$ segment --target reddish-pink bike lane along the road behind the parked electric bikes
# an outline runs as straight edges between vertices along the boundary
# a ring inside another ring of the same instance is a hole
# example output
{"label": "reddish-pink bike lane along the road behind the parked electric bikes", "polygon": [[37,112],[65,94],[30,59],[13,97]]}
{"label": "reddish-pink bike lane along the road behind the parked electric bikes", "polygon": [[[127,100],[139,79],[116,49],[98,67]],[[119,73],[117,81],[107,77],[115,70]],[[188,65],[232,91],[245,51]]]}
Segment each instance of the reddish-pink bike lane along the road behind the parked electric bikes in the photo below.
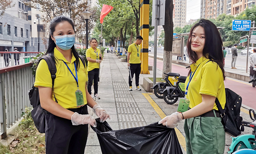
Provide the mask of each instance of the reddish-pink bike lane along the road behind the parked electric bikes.
{"label": "reddish-pink bike lane along the road behind the parked electric bikes", "polygon": [[[154,65],[154,59],[149,57],[149,65]],[[156,60],[156,68],[163,70],[163,61]],[[179,66],[172,64],[172,72],[179,73],[182,76],[188,75],[188,69],[184,66]],[[242,97],[242,104],[249,106],[253,109],[256,109],[256,88],[252,87],[250,83],[244,83],[243,81],[237,81],[233,79],[226,78],[224,81],[225,88],[229,88],[235,93],[239,94]]]}

